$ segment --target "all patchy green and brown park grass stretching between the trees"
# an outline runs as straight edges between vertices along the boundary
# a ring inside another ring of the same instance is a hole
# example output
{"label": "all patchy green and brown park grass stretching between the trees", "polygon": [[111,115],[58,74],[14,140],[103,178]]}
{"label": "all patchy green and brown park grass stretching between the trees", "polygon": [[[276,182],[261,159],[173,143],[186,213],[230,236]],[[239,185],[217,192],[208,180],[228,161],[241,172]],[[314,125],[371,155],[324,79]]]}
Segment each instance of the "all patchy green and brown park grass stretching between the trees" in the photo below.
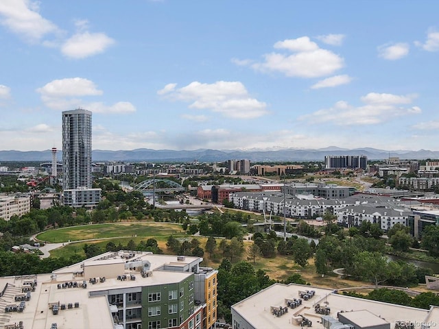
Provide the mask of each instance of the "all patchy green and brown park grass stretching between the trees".
{"label": "all patchy green and brown park grass stretching between the trees", "polygon": [[[49,230],[38,234],[37,239],[41,241],[48,241],[51,243],[61,243],[71,241],[64,247],[51,250],[51,257],[54,258],[69,258],[74,254],[85,256],[84,245],[96,244],[97,246],[105,249],[106,244],[112,241],[116,245],[127,245],[128,241],[132,240],[138,244],[142,240],[153,238],[158,242],[158,246],[163,249],[165,254],[169,253],[166,248],[166,242],[170,235],[176,236],[178,239],[193,239],[193,236],[188,236],[182,230],[178,224],[171,223],[109,223],[109,224],[95,224],[88,226],[75,226],[71,228],[62,228],[58,230]],[[82,241],[88,240],[90,241]],[[204,248],[206,244],[206,238],[198,236],[200,246]],[[78,242],[74,242],[78,241]],[[217,239],[217,245],[219,245],[220,239]],[[250,241],[244,241],[244,253],[238,260],[247,260],[247,248],[250,245]],[[222,254],[219,250],[215,252],[213,256],[205,252],[204,265],[217,268],[222,260]],[[293,273],[299,273],[304,280],[310,282],[313,285],[320,287],[334,287],[344,288],[352,287],[359,284],[359,282],[353,282],[350,280],[341,280],[335,275],[327,275],[324,278],[316,273],[316,269],[313,265],[312,258],[309,260],[309,264],[305,267],[300,267],[294,263],[294,260],[290,256],[276,256],[274,258],[258,257],[254,263],[256,270],[263,269],[268,276],[276,280],[284,280]]]}

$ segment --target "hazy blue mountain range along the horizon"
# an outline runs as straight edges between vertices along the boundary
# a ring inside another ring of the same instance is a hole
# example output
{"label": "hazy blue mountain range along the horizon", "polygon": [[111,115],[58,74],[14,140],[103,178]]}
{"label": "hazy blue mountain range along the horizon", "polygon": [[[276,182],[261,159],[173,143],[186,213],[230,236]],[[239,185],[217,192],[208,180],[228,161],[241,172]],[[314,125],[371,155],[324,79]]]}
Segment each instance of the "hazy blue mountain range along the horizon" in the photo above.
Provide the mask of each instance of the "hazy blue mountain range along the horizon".
{"label": "hazy blue mountain range along the horizon", "polygon": [[[200,162],[225,161],[230,159],[248,159],[252,162],[270,161],[323,161],[324,156],[367,156],[369,160],[384,160],[390,157],[401,159],[439,159],[439,151],[420,149],[418,151],[396,150],[386,151],[370,147],[358,149],[342,149],[325,147],[323,149],[274,149],[274,150],[216,150],[195,149],[192,151],[175,151],[171,149],[132,149],[108,151],[95,149],[93,161],[148,161],[148,162]],[[62,151],[58,151],[58,161],[62,159]],[[45,151],[0,151],[0,161],[41,161],[51,162],[51,150]]]}

